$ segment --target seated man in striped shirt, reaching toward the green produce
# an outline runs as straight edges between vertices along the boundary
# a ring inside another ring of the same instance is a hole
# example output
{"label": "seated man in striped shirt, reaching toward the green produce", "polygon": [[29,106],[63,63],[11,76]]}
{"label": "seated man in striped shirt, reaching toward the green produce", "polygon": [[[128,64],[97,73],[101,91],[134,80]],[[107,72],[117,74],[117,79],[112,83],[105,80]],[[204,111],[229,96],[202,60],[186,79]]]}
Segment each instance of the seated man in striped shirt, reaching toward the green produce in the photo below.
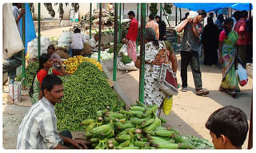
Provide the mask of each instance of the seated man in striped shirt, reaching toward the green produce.
{"label": "seated man in striped shirt, reaching toward the green produce", "polygon": [[[18,128],[18,149],[69,149],[71,146],[86,148],[85,141],[72,140],[59,134],[54,105],[62,102],[62,80],[55,75],[47,75],[42,80],[43,97],[35,103]],[[70,132],[69,132],[70,134]],[[70,147],[67,147],[70,144]]]}

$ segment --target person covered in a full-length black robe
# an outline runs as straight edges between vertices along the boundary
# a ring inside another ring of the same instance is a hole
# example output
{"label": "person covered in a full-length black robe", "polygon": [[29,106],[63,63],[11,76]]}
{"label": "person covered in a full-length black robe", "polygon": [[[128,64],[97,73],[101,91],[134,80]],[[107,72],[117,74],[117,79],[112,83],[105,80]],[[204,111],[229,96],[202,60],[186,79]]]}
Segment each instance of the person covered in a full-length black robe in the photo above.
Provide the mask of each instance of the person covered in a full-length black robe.
{"label": "person covered in a full-length black robe", "polygon": [[202,48],[204,51],[204,65],[216,65],[218,61],[218,26],[213,18],[207,18],[207,25],[202,31]]}

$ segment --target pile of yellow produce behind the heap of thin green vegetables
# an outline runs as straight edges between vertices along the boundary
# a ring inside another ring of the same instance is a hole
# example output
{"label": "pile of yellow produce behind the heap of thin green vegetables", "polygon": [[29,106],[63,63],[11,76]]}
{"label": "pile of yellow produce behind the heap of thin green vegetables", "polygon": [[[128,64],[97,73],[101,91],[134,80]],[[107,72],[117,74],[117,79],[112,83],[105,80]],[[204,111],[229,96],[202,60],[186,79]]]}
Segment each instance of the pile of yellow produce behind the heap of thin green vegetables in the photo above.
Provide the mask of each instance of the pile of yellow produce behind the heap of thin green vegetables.
{"label": "pile of yellow produce behind the heap of thin green vegetables", "polygon": [[66,65],[66,73],[73,74],[78,69],[78,65],[80,65],[83,61],[89,61],[90,63],[96,65],[98,69],[102,71],[102,65],[100,64],[100,62],[90,57],[82,57],[81,55],[78,55],[70,57],[66,61],[63,61],[63,65]]}

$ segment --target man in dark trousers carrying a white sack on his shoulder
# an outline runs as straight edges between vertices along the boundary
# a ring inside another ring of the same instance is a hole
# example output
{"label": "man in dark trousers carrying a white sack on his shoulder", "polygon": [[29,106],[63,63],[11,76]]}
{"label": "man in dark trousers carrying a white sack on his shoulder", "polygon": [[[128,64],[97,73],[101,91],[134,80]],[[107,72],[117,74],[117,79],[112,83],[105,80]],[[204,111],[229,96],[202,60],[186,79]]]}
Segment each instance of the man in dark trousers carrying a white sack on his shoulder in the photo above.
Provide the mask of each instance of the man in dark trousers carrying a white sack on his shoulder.
{"label": "man in dark trousers carrying a white sack on his shoulder", "polygon": [[205,10],[198,10],[198,16],[195,18],[187,18],[181,26],[178,27],[178,33],[184,29],[182,39],[182,61],[181,61],[181,77],[182,92],[187,91],[187,66],[190,64],[194,85],[197,95],[207,95],[209,91],[202,88],[202,76],[199,65],[199,35],[202,33],[202,20],[206,17]]}

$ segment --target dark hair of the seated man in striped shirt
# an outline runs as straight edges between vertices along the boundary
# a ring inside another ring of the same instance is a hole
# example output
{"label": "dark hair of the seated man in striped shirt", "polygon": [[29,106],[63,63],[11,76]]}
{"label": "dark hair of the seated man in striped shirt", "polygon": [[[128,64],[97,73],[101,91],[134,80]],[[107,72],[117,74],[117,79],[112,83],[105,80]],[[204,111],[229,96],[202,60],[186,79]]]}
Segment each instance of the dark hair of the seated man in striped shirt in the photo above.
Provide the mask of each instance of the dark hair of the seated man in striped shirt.
{"label": "dark hair of the seated man in striped shirt", "polygon": [[42,95],[45,96],[43,92],[45,89],[48,91],[51,91],[51,89],[54,88],[54,85],[60,85],[60,84],[62,84],[62,80],[58,76],[55,76],[54,74],[47,75],[42,80],[42,85],[41,85]]}

